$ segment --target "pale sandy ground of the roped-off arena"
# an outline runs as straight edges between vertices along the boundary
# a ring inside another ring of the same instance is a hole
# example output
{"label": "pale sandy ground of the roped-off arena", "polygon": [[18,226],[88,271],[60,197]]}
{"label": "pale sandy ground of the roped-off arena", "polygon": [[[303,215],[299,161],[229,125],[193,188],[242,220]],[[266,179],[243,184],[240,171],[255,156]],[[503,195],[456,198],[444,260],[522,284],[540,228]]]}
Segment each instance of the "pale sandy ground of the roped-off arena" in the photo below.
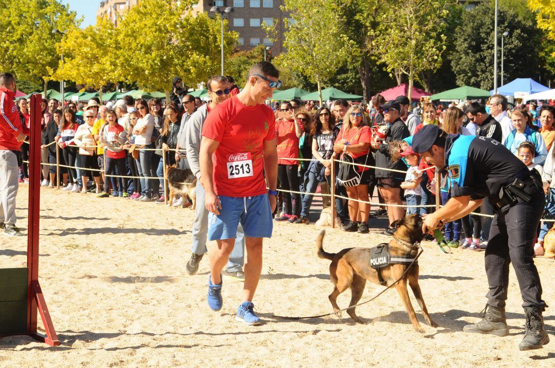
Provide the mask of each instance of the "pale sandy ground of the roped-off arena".
{"label": "pale sandy ground of the roped-off arena", "polygon": [[[206,305],[208,260],[199,274],[184,273],[190,254],[193,211],[123,198],[41,193],[41,285],[62,345],[48,347],[25,336],[0,339],[0,366],[186,367],[522,367],[555,365],[555,317],[544,314],[552,343],[520,352],[524,326],[521,297],[511,270],[507,318],[511,335],[468,335],[487,292],[483,252],[451,255],[425,243],[420,285],[440,328],[416,333],[395,290],[357,308],[366,324],[329,318],[287,321],[331,311],[329,261],[315,254],[313,224],[275,224],[265,241],[263,276],[255,298],[261,326],[236,323],[242,284],[225,278],[224,308]],[[18,195],[18,224],[27,227],[27,187]],[[376,232],[329,230],[325,249],[372,246]],[[213,247],[214,244],[210,244]],[[26,262],[26,238],[0,236],[0,267]],[[555,263],[537,259],[544,299],[555,305]],[[367,283],[362,300],[382,289]],[[350,292],[340,296],[345,307]],[[348,317],[348,316],[347,316]],[[39,321],[40,324],[40,321]]]}

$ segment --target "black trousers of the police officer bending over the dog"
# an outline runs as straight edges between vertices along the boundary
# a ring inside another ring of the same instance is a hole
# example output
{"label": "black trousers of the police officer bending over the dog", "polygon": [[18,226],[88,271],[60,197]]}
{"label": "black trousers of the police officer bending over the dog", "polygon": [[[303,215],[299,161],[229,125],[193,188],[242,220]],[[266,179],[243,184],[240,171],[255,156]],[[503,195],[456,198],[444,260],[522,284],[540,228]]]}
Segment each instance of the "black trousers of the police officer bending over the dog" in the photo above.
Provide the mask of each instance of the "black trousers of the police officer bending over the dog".
{"label": "black trousers of the police officer bending over the dog", "polygon": [[524,301],[522,306],[537,306],[542,310],[546,306],[542,300],[542,285],[533,260],[534,239],[544,202],[543,193],[537,191],[529,203],[518,200],[513,206],[495,210],[486,248],[489,305],[505,308],[509,264],[512,263]]}

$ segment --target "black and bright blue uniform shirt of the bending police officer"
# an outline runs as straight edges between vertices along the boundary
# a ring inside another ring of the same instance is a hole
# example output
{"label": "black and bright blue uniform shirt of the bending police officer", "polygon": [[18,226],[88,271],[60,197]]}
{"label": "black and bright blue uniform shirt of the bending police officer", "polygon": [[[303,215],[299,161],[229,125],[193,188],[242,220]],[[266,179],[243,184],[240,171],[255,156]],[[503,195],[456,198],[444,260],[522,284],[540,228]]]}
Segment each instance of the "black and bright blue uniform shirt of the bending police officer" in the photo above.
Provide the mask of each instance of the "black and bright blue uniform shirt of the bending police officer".
{"label": "black and bright blue uniform shirt of the bending police officer", "polygon": [[499,190],[514,178],[529,176],[526,165],[498,141],[474,135],[448,135],[445,143],[452,197],[488,197],[499,201]]}

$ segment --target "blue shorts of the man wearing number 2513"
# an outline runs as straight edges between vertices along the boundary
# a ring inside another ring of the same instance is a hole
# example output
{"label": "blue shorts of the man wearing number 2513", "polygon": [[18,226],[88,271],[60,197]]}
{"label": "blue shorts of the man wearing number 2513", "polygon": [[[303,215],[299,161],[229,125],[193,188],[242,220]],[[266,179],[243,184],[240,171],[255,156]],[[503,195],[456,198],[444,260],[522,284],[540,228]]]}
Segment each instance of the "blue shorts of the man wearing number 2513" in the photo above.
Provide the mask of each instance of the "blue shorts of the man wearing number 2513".
{"label": "blue shorts of the man wearing number 2513", "polygon": [[208,240],[232,239],[237,235],[239,222],[245,237],[271,238],[273,221],[267,194],[254,197],[218,196],[220,214],[208,214]]}

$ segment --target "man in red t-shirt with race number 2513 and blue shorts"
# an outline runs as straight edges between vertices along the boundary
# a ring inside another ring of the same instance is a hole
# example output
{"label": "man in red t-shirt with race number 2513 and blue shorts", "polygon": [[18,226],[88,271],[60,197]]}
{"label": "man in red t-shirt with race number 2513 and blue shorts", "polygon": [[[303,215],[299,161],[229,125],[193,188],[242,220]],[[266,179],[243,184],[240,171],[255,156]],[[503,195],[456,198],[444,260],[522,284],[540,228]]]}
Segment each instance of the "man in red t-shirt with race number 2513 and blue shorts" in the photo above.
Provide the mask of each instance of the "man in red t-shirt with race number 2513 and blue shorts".
{"label": "man in red t-shirt with race number 2513 and blue shorts", "polygon": [[200,181],[210,211],[208,239],[218,242],[218,249],[210,254],[208,305],[217,311],[223,304],[221,270],[233,251],[240,222],[247,263],[243,303],[235,319],[249,325],[260,324],[252,300],[262,271],[263,238],[271,237],[278,194],[274,113],[265,105],[281,85],[278,76],[270,62],[251,67],[243,91],[206,117],[200,145]]}

